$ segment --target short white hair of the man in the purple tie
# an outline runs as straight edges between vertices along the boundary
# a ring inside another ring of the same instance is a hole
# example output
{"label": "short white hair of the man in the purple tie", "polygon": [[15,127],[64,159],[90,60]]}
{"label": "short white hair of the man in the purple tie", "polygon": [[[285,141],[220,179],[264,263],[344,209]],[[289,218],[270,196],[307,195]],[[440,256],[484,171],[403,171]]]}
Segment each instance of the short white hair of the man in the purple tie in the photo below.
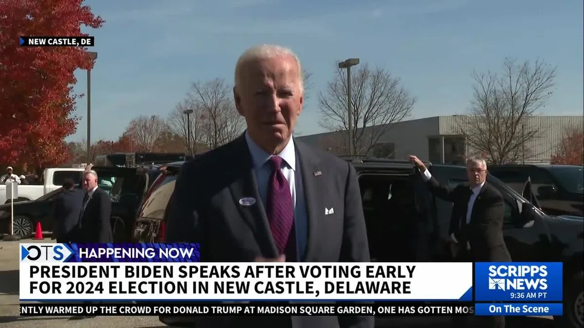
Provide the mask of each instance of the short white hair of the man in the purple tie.
{"label": "short white hair of the man in the purple tie", "polygon": [[294,53],[294,51],[286,47],[276,46],[275,44],[262,44],[260,46],[254,46],[244,51],[244,53],[239,56],[237,64],[235,64],[235,86],[237,87],[238,85],[244,83],[244,81],[241,81],[241,75],[245,65],[249,64],[250,62],[281,56],[290,56],[296,60],[296,63],[298,64],[298,75],[300,76],[300,90],[304,91],[304,72],[302,65],[300,64],[300,59],[298,59],[298,56]]}

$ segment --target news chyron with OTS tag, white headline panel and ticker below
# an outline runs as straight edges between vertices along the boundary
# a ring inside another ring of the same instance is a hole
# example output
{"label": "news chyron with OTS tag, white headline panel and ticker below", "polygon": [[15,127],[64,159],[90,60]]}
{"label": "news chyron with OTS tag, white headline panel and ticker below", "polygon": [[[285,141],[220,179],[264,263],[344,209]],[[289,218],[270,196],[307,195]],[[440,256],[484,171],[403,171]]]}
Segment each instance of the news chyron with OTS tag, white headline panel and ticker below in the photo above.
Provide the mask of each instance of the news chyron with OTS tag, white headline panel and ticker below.
{"label": "news chyron with OTS tag, white headline panel and ticker below", "polygon": [[[281,303],[270,301],[324,301],[319,302],[318,309],[311,308],[311,313],[323,315],[349,312],[377,315],[379,311],[396,315],[453,315],[474,310],[453,306],[453,302],[460,305],[472,302],[472,263],[199,263],[199,247],[185,243],[21,244],[20,259],[20,301],[159,302],[139,303],[142,306],[139,310],[138,305],[123,305],[122,309],[119,304],[103,308],[53,302],[22,304],[21,315],[56,312],[116,315],[131,308],[142,311],[133,314],[143,315],[158,315],[160,311],[213,314],[217,310],[213,308],[217,303],[206,309],[189,308],[192,303],[184,302],[182,308],[176,309],[160,304],[175,301],[196,301],[201,305],[216,301],[263,301],[259,305],[222,304],[234,315],[262,304],[281,307]],[[377,301],[408,304],[362,309],[361,303],[346,309],[338,308],[332,301],[346,301],[343,306],[363,301],[376,301],[376,305]],[[450,307],[427,306],[422,303],[425,301],[448,302]],[[305,310],[301,307],[290,305],[283,311],[304,315],[305,312],[298,312]],[[266,313],[265,310],[258,311]]]}

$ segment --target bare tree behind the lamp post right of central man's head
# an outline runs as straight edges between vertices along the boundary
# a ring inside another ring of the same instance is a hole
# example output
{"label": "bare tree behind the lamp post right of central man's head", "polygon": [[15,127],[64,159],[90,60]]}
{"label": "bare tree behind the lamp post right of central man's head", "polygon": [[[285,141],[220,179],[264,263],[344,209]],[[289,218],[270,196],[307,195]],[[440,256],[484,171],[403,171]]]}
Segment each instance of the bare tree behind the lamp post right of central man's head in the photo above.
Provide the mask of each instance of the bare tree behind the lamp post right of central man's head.
{"label": "bare tree behind the lamp post right of central man's head", "polygon": [[[330,131],[348,131],[347,78],[345,69],[336,69],[326,92],[319,93],[321,120],[319,124]],[[351,71],[351,111],[353,140],[345,137],[345,153],[352,142],[356,155],[367,155],[373,146],[397,123],[408,117],[415,98],[396,78],[382,68],[370,69],[363,64]]]}

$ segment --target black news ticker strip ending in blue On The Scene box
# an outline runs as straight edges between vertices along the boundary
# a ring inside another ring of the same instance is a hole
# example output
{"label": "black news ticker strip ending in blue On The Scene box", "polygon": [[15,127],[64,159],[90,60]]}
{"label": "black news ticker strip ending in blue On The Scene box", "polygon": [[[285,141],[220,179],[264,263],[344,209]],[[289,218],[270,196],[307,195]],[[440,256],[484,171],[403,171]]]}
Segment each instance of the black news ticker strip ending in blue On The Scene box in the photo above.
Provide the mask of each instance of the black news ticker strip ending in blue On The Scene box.
{"label": "black news ticker strip ending in blue On The Scene box", "polygon": [[561,316],[561,303],[20,304],[20,316]]}

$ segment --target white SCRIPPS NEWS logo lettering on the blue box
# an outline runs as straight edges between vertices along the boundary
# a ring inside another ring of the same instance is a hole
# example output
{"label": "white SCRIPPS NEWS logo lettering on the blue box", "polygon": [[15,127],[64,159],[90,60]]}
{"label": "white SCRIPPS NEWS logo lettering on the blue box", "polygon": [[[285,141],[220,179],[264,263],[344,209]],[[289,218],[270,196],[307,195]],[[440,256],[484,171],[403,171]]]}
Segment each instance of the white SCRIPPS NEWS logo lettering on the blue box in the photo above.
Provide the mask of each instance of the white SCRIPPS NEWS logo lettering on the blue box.
{"label": "white SCRIPPS NEWS logo lettering on the blue box", "polygon": [[547,266],[489,266],[489,289],[545,291]]}

